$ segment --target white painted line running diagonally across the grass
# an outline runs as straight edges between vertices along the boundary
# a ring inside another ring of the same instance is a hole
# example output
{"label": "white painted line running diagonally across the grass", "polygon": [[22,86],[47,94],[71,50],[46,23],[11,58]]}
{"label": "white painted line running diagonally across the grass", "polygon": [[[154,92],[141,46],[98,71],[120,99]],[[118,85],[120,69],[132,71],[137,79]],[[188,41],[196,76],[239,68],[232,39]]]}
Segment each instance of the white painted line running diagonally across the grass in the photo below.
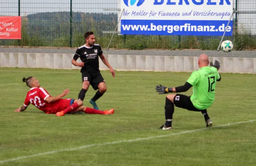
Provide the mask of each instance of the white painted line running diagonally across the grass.
{"label": "white painted line running diagonally across the grass", "polygon": [[[220,126],[213,126],[212,128],[231,126],[231,125],[236,125],[236,124],[241,124],[241,123],[250,123],[250,122],[254,122],[254,121],[256,121],[256,120],[242,121],[242,122],[237,122],[237,123],[228,123],[228,124],[224,124],[224,125],[220,125]],[[107,142],[107,143],[96,143],[96,144],[84,145],[84,146],[80,146],[80,147],[76,147],[76,148],[55,150],[55,151],[50,151],[50,152],[38,153],[38,154],[34,154],[34,155],[11,158],[11,159],[8,159],[8,160],[0,160],[0,163],[6,163],[6,162],[9,162],[9,161],[17,161],[17,160],[22,160],[22,159],[25,159],[25,158],[37,157],[37,156],[42,156],[42,155],[50,155],[50,154],[59,153],[59,152],[67,152],[67,151],[75,151],[75,150],[79,150],[79,149],[86,149],[86,148],[90,148],[90,147],[93,147],[93,146],[105,146],[105,145],[113,145],[113,144],[117,144],[117,143],[131,143],[131,142],[136,142],[136,141],[140,141],[140,140],[151,140],[151,139],[155,139],[155,138],[169,137],[169,136],[172,136],[172,135],[181,135],[181,134],[186,134],[186,133],[198,132],[198,131],[202,131],[202,130],[205,130],[205,129],[207,129],[207,128],[196,129],[196,130],[188,130],[188,131],[185,131],[185,132],[172,133],[172,134],[168,134],[168,135],[159,135],[159,136],[155,136],[155,137],[137,138],[137,139],[134,139],[134,140],[119,140],[119,141],[113,141],[113,142]]]}

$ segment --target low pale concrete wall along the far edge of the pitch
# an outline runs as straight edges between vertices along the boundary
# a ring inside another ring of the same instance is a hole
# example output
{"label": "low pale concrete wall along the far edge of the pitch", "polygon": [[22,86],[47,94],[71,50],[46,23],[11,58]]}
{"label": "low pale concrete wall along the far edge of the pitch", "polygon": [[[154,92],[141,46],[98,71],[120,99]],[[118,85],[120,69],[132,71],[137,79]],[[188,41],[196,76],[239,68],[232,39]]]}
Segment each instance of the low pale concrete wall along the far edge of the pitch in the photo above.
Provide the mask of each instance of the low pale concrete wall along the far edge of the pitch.
{"label": "low pale concrete wall along the far edge of the pitch", "polygon": [[[198,69],[198,57],[144,55],[105,55],[115,70],[192,72]],[[0,53],[1,67],[80,69],[73,66],[73,54]],[[256,58],[210,57],[221,63],[219,72],[256,73]],[[80,60],[78,60],[80,62]],[[108,69],[99,60],[100,69]]]}

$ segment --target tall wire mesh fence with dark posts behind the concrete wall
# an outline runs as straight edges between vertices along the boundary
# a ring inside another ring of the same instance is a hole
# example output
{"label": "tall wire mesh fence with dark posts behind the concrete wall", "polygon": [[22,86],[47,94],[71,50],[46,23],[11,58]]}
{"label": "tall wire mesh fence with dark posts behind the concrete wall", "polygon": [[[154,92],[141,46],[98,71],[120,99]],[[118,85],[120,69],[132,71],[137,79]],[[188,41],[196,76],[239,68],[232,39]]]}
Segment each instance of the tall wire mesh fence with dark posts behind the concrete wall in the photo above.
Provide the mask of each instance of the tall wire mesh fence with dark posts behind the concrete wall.
{"label": "tall wire mesh fence with dark posts behind the concrete wall", "polygon": [[[233,36],[236,50],[256,49],[256,0],[234,0]],[[94,31],[106,48],[118,23],[120,0],[0,0],[0,16],[22,17],[22,39],[0,40],[6,46],[78,47],[83,34]],[[218,48],[221,36],[113,36],[117,49]]]}

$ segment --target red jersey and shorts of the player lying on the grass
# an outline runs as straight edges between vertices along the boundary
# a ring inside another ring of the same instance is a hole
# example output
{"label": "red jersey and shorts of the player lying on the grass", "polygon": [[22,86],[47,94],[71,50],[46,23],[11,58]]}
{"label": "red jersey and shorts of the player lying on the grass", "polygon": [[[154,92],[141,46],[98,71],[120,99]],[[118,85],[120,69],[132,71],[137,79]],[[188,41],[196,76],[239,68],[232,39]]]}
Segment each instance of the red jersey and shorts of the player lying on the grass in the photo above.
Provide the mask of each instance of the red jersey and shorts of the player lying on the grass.
{"label": "red jersey and shorts of the player lying on the grass", "polygon": [[52,114],[66,109],[70,106],[70,99],[59,99],[51,103],[47,103],[45,99],[51,97],[49,93],[42,87],[31,88],[26,95],[24,106],[29,106],[32,103],[41,111]]}

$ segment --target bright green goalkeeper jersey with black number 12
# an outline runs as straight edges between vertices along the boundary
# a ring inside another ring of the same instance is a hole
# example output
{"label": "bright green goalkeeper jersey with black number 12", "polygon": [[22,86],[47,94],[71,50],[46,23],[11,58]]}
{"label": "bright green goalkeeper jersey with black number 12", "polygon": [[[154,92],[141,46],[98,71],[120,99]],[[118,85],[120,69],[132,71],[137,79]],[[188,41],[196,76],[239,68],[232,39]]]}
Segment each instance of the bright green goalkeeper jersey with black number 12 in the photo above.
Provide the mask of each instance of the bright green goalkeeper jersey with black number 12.
{"label": "bright green goalkeeper jersey with black number 12", "polygon": [[193,94],[190,99],[197,109],[207,109],[215,99],[216,81],[220,79],[220,74],[215,67],[202,67],[192,72],[187,80],[193,86]]}

